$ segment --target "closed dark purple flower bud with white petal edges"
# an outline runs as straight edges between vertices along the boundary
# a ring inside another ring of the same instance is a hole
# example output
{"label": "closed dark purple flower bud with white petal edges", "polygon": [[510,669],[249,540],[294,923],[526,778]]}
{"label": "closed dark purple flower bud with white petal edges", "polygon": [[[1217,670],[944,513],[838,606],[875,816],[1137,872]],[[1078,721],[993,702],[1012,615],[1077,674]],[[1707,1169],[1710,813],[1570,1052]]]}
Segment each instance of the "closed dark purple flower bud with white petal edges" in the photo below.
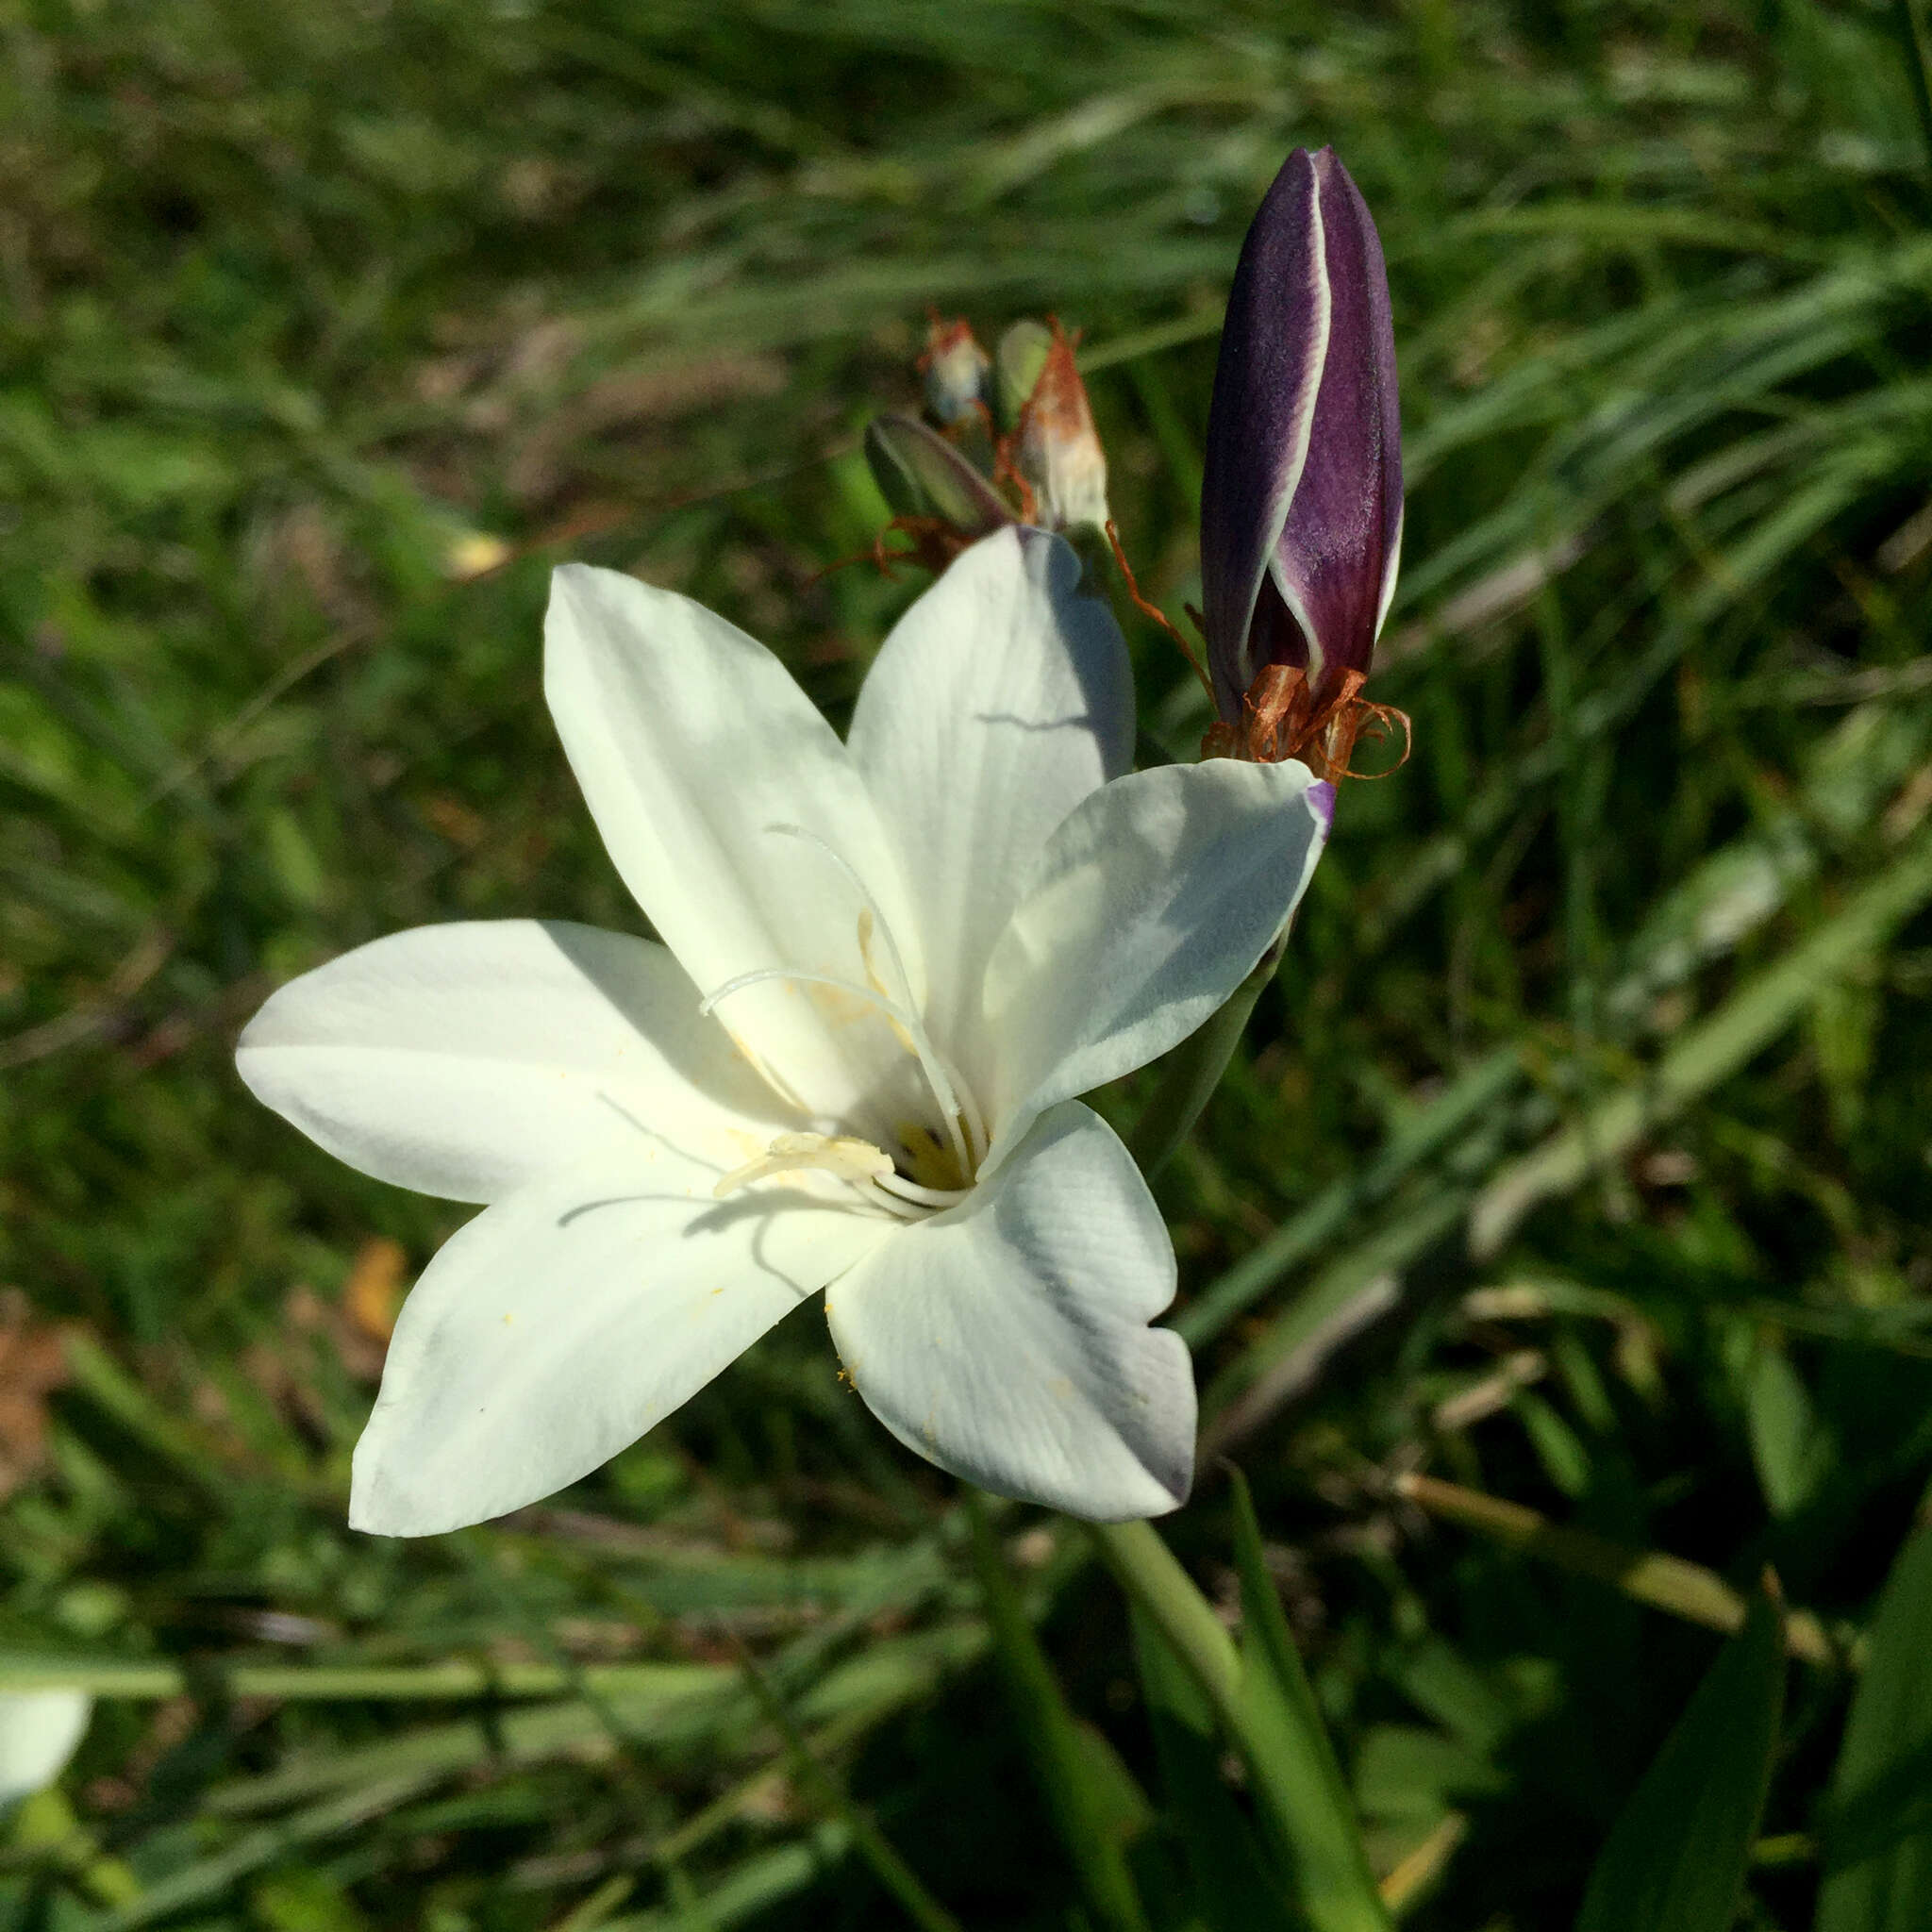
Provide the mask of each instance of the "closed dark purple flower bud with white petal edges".
{"label": "closed dark purple flower bud with white petal edges", "polygon": [[1296,149],[1235,269],[1208,412],[1202,601],[1225,724],[1269,667],[1316,705],[1368,674],[1403,541],[1403,427],[1376,222]]}

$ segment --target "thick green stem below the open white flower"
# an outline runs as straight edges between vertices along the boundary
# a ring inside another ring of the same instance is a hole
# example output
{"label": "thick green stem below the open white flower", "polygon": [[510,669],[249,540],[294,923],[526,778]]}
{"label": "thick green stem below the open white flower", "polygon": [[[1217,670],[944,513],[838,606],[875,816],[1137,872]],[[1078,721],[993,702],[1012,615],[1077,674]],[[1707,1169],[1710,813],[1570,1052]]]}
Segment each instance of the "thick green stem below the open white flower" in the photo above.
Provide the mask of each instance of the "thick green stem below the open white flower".
{"label": "thick green stem below the open white flower", "polygon": [[[1285,1654],[1275,1660],[1281,1681],[1269,1685],[1269,1665],[1242,1658],[1150,1522],[1095,1522],[1090,1532],[1121,1588],[1208,1694],[1248,1766],[1256,1803],[1293,1859],[1308,1924],[1314,1932],[1389,1932],[1333,1747],[1287,1629],[1279,1633]],[[1264,1638],[1256,1634],[1254,1642]]]}

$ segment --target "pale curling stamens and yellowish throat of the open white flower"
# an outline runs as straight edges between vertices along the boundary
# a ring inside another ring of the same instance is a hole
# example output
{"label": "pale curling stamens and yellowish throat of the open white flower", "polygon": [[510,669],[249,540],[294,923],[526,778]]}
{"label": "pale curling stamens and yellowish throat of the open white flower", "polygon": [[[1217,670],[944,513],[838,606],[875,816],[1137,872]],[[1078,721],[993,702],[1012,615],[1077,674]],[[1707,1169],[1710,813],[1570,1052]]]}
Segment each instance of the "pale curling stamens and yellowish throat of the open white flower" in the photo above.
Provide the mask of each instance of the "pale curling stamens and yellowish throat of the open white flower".
{"label": "pale curling stamens and yellowish throat of the open white flower", "polygon": [[[918,1061],[925,1088],[937,1105],[939,1124],[933,1126],[927,1121],[900,1122],[900,1153],[896,1159],[873,1142],[854,1134],[779,1134],[757,1159],[746,1161],[724,1175],[713,1192],[723,1198],[771,1175],[817,1169],[837,1175],[869,1206],[883,1208],[887,1213],[902,1219],[918,1219],[920,1215],[952,1208],[972,1190],[974,1175],[985,1159],[987,1134],[980,1107],[960,1078],[958,1068],[939,1051],[925,1030],[925,1022],[914,1010],[906,962],[860,875],[823,838],[802,825],[773,825],[769,831],[813,844],[846,875],[860,895],[858,954],[866,968],[866,983],[860,985],[837,974],[765,966],[759,972],[738,974],[736,980],[726,980],[724,985],[705,995],[697,1010],[709,1014],[721,1001],[730,999],[734,993],[771,980],[784,980],[792,985],[823,985],[838,993],[848,993],[879,1012],[887,1026],[891,1026],[893,1037]],[[898,997],[895,997],[891,983],[881,974],[879,962],[873,956],[875,941],[885,954],[885,964],[891,968],[893,980],[898,983]]]}

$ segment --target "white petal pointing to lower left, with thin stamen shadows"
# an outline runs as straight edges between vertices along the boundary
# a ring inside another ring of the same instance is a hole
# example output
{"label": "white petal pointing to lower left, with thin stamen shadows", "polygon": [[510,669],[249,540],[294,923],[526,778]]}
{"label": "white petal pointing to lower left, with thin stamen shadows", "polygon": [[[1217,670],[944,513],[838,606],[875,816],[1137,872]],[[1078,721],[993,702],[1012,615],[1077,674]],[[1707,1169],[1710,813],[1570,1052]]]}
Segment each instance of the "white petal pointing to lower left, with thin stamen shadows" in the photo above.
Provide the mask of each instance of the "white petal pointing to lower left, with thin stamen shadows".
{"label": "white petal pointing to lower left, with thin stamen shadows", "polygon": [[711,1184],[672,1155],[558,1175],[444,1242],[396,1323],[350,1522],[427,1536],[587,1476],[900,1225]]}

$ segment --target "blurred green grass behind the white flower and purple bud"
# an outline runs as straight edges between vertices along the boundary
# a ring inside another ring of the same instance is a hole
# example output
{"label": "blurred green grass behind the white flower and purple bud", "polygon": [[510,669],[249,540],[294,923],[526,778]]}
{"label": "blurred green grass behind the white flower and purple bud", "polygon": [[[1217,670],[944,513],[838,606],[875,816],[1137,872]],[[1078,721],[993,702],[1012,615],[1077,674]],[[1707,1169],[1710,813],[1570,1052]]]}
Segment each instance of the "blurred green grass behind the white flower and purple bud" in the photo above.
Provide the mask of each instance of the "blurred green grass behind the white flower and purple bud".
{"label": "blurred green grass behind the white flower and purple bud", "polygon": [[[912,400],[929,303],[1086,330],[1179,612],[1240,234],[1333,141],[1395,298],[1374,696],[1416,752],[1347,788],[1161,1177],[1179,1320],[1378,1870],[1434,1872],[1406,1922],[1569,1924],[1716,1654],[1432,1519],[1395,1488],[1424,1470],[1770,1563],[1820,1619],[1743,1920],[1808,1926],[1845,1652],[1932,1476],[1911,17],[0,0],[0,1283],[73,1337],[0,1517],[0,1648],[137,1692],[71,1810],[15,1824],[0,1922],[914,1922],[873,1820],[966,1926],[1086,1924],[951,1486],[813,1314],[551,1507],[346,1530],[371,1383],[338,1296],[462,1211],[328,1161],[230,1051],[400,925],[638,923],[541,703],[553,562],[701,597],[842,723],[916,585],[825,566],[883,522],[858,431]],[[462,578],[475,531],[510,560]],[[1188,755],[1184,667],[1130,636]],[[1167,1528],[1233,1609],[1211,1463]],[[1001,1530],[1144,1772],[1117,1594],[1065,1526]],[[406,1665],[495,1689],[361,1694]]]}

